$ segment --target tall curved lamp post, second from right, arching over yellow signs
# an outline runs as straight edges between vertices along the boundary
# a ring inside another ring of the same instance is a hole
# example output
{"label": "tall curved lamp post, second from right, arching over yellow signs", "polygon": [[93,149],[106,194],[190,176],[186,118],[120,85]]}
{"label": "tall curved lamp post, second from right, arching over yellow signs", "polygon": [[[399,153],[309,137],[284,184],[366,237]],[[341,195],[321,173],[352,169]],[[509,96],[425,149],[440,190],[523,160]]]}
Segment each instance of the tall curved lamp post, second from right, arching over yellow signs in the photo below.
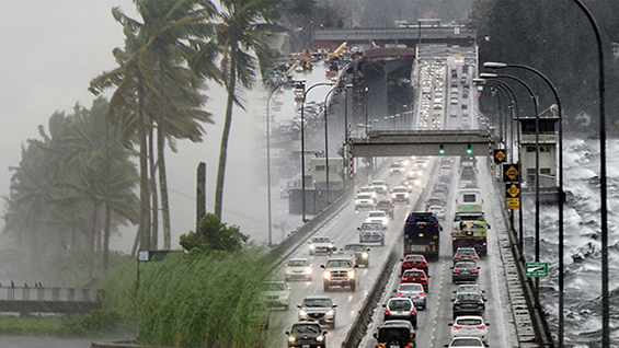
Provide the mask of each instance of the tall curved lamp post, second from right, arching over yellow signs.
{"label": "tall curved lamp post, second from right, arching over yellow signs", "polygon": [[486,61],[483,63],[484,68],[492,69],[503,69],[503,68],[516,68],[528,70],[538,77],[540,77],[552,90],[554,100],[557,101],[557,108],[559,112],[559,348],[563,348],[563,336],[564,336],[564,317],[563,317],[563,305],[564,305],[564,265],[563,265],[563,246],[564,246],[564,234],[563,234],[563,108],[561,107],[561,100],[559,98],[559,93],[557,93],[557,88],[548,77],[541,73],[539,70],[534,69],[528,66],[516,65],[516,63],[504,63],[504,62],[492,62]]}

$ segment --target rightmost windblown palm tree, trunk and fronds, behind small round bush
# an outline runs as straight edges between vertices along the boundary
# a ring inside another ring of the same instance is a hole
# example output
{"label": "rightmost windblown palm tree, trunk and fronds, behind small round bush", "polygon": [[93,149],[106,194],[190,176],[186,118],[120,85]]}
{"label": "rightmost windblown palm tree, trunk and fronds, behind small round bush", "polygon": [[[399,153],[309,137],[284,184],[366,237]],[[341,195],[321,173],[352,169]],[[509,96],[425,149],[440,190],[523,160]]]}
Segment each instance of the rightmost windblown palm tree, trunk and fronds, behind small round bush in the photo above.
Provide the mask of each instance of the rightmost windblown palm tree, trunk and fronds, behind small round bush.
{"label": "rightmost windblown palm tree, trunk and fronds, behind small round bush", "polygon": [[283,14],[283,7],[284,2],[280,0],[220,0],[216,42],[221,50],[220,69],[228,96],[215,189],[215,214],[219,219],[221,219],[232,109],[234,104],[244,108],[237,83],[244,89],[252,86],[256,69],[256,58],[252,53],[257,57],[266,57],[264,38],[267,33],[283,31],[277,24]]}

